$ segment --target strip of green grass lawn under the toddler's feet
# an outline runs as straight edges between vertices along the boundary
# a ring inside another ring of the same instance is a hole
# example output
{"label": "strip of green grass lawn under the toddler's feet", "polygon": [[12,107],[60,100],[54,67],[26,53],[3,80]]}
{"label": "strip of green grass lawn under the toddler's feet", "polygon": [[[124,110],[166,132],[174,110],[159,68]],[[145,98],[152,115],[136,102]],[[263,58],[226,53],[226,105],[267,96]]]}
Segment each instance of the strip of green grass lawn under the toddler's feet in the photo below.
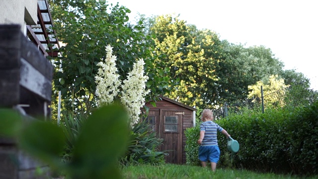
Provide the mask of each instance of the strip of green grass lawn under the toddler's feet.
{"label": "strip of green grass lawn under the toddler's feet", "polygon": [[[212,172],[211,168],[173,164],[130,166],[122,169],[122,175],[124,179],[301,179],[290,175],[259,174],[220,168]],[[311,179],[315,178],[317,179]]]}

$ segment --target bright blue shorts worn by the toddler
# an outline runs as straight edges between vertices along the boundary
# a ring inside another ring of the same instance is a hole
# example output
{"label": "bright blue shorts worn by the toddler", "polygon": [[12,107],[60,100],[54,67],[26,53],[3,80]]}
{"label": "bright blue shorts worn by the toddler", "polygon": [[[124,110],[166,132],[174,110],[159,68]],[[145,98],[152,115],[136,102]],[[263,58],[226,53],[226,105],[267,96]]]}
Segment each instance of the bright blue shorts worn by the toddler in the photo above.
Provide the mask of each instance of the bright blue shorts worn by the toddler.
{"label": "bright blue shorts worn by the toddler", "polygon": [[202,162],[207,162],[209,160],[210,162],[218,163],[220,153],[219,146],[200,146],[198,159]]}

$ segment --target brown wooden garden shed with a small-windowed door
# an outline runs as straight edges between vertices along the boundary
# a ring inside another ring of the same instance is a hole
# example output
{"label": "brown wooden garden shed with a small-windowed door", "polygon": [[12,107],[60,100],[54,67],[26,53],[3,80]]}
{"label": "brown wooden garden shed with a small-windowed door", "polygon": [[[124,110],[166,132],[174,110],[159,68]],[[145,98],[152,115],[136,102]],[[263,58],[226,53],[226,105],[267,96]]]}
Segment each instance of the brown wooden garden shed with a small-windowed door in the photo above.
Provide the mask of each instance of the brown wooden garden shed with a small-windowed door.
{"label": "brown wooden garden shed with a small-windowed door", "polygon": [[156,107],[150,102],[145,104],[149,107],[146,119],[159,138],[163,139],[160,150],[169,150],[169,155],[165,157],[166,163],[185,164],[184,131],[193,127],[197,109],[164,96],[160,98],[161,100],[156,102]]}

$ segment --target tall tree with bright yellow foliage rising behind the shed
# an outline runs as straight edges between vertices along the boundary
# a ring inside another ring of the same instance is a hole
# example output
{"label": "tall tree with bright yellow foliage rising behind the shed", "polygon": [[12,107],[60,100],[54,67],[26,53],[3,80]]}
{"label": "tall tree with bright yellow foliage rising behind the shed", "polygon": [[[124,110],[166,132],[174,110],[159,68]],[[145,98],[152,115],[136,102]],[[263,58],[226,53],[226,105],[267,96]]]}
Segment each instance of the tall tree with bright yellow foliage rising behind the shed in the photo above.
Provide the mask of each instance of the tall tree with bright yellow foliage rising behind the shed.
{"label": "tall tree with bright yellow foliage rising behind the shed", "polygon": [[150,33],[155,35],[155,53],[178,82],[166,95],[191,106],[211,106],[217,98],[217,60],[209,53],[215,53],[218,36],[209,30],[199,32],[171,14],[158,16]]}

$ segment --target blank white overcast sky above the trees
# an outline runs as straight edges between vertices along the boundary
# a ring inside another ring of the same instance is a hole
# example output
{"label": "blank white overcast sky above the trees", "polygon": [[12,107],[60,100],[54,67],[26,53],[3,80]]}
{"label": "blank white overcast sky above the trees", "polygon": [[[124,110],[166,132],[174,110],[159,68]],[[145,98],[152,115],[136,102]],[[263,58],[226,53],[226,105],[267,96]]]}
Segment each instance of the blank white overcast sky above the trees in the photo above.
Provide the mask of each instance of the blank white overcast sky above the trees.
{"label": "blank white overcast sky above the trees", "polygon": [[230,43],[270,48],[285,64],[311,79],[318,90],[318,1],[316,0],[108,0],[147,16],[180,14],[198,29]]}

